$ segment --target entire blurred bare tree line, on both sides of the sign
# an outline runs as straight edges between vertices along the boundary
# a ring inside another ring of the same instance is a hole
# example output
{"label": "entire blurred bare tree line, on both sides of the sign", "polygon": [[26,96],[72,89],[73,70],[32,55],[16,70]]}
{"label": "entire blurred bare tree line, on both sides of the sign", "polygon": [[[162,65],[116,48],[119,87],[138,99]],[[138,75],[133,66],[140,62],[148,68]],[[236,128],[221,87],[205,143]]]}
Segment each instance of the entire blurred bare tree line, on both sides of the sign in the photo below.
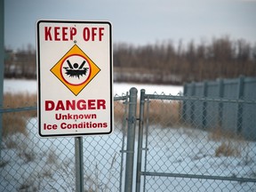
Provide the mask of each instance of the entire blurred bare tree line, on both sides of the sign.
{"label": "entire blurred bare tree line, on both sides of the sign", "polygon": [[[183,84],[216,78],[256,76],[256,44],[228,36],[211,43],[172,41],[138,45],[114,44],[114,80],[150,84]],[[31,45],[5,49],[5,77],[36,78],[36,50]]]}

